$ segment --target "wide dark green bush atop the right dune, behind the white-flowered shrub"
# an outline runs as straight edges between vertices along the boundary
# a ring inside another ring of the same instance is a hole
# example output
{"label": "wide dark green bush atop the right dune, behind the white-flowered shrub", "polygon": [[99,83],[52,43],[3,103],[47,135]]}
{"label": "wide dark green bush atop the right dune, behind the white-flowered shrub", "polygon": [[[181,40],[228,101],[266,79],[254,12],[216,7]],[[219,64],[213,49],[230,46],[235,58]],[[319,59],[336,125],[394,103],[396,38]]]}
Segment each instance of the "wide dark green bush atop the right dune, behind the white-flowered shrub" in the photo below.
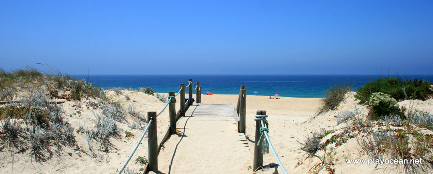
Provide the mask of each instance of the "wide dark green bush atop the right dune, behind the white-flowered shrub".
{"label": "wide dark green bush atop the right dune, behind the white-flowered shrub", "polygon": [[404,99],[421,99],[426,100],[433,95],[432,83],[429,81],[406,80],[402,81],[397,78],[379,78],[376,81],[368,82],[364,86],[359,87],[355,97],[365,103],[370,100],[371,94],[374,92],[382,92],[389,94],[396,100]]}

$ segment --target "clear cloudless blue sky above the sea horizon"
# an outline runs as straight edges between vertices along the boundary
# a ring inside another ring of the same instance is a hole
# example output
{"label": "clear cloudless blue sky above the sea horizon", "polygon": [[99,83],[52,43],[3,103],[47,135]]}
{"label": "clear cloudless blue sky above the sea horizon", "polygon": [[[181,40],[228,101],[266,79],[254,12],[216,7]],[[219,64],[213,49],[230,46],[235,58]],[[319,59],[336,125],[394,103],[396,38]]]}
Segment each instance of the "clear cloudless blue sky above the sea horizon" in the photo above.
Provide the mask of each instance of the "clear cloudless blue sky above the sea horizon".
{"label": "clear cloudless blue sky above the sea horizon", "polygon": [[0,67],[426,75],[432,9],[432,0],[2,0]]}

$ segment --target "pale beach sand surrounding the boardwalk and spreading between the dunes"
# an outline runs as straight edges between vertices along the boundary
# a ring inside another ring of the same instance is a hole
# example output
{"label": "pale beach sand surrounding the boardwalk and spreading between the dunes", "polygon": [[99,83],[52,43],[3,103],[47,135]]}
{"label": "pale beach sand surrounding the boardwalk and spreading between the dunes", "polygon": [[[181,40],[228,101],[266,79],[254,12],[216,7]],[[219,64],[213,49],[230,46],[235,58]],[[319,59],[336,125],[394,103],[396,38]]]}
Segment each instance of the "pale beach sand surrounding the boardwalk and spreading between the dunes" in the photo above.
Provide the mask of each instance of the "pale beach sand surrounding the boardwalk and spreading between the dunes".
{"label": "pale beach sand surrounding the boardwalk and spreading between the dunes", "polygon": [[[131,92],[131,91],[123,91],[122,95],[116,95],[112,91],[108,91],[110,97],[113,100],[119,101],[124,108],[127,108],[129,105],[133,105],[136,107],[143,115],[146,115],[148,111],[156,111],[159,112],[164,106],[165,103],[159,101],[156,97],[151,95],[146,95],[141,92]],[[338,125],[336,123],[336,115],[343,111],[353,110],[355,107],[357,109],[368,111],[364,105],[359,104],[359,100],[353,97],[354,92],[349,92],[346,94],[346,99],[343,101],[337,110],[329,111],[324,114],[316,116],[316,112],[321,107],[321,98],[290,98],[290,97],[279,97],[280,99],[269,99],[268,96],[255,96],[248,95],[247,96],[247,107],[246,107],[246,134],[245,136],[254,140],[255,134],[255,121],[254,115],[257,110],[266,110],[267,115],[269,116],[267,120],[269,121],[269,136],[271,142],[281,160],[284,167],[289,173],[308,173],[309,169],[320,160],[317,158],[309,157],[309,155],[301,150],[300,142],[303,142],[305,137],[314,130],[318,130],[320,128],[325,129],[333,129],[336,130],[336,133],[341,129],[342,125]],[[129,96],[130,100],[127,100],[125,96]],[[161,94],[167,96],[167,94]],[[193,95],[195,97],[195,94]],[[188,97],[188,94],[186,94]],[[179,101],[179,96],[176,97]],[[224,103],[224,104],[233,104],[236,106],[238,95],[202,95],[202,103]],[[93,99],[91,99],[93,100]],[[86,101],[83,101],[86,102]],[[408,104],[406,102],[400,104]],[[432,99],[425,102],[417,103],[420,108],[431,110],[432,107]],[[77,110],[75,102],[65,102],[63,104],[63,109],[65,110],[65,119],[74,127],[75,130],[79,128],[79,126],[83,126],[84,129],[92,129],[95,126],[94,113],[101,112],[100,109],[94,110],[92,108],[86,108],[83,104],[82,108]],[[176,110],[179,108],[178,103],[176,104]],[[80,111],[80,113],[77,113]],[[8,154],[8,152],[3,149],[0,152],[1,155],[1,166],[0,173],[1,174],[33,174],[33,173],[42,173],[42,174],[87,174],[87,173],[116,173],[118,169],[122,166],[124,161],[128,158],[130,152],[135,147],[135,144],[139,140],[142,130],[131,130],[128,127],[128,124],[132,123],[134,118],[131,116],[127,116],[128,123],[118,123],[118,126],[123,129],[120,139],[111,139],[111,142],[115,145],[117,150],[111,150],[110,152],[104,152],[99,150],[99,144],[94,142],[93,147],[95,149],[96,158],[93,158],[89,151],[89,145],[87,142],[85,133],[76,133],[75,137],[78,145],[80,146],[79,150],[65,147],[60,154],[60,156],[54,156],[46,162],[35,162],[31,161],[30,155],[28,152],[25,153],[17,153],[13,156],[13,158]],[[162,139],[167,130],[169,119],[168,119],[168,109],[166,109],[158,118],[158,141]],[[145,125],[143,125],[145,126]],[[132,138],[125,138],[124,131],[130,131],[135,134]],[[233,131],[236,131],[235,126],[233,126]],[[330,134],[328,136],[332,136]],[[194,135],[188,135],[194,136]],[[215,141],[215,137],[207,136],[206,139],[209,141]],[[173,163],[172,166],[176,166],[176,163],[171,161],[172,156],[170,153],[176,147],[173,146],[176,144],[175,138],[169,138],[165,143],[165,147],[161,150],[159,159],[159,171],[160,173],[167,173],[168,167],[170,163]],[[206,147],[203,147],[206,148]],[[254,153],[254,144],[251,141],[248,141],[249,155],[246,157],[236,157],[238,154],[229,154],[233,158],[241,159],[243,162],[241,165],[226,165],[221,166],[221,169],[225,169],[226,171],[237,171],[236,173],[246,173],[252,174],[253,171],[251,169],[253,165],[253,159],[251,158]],[[336,149],[333,149],[332,152],[335,153],[333,158],[335,173],[350,173],[355,174],[364,174],[364,173],[395,173],[395,169],[393,167],[385,167],[385,166],[375,166],[375,165],[351,165],[346,164],[345,159],[355,159],[355,158],[364,158],[367,159],[368,156],[361,153],[361,148],[357,144],[356,140],[352,139],[347,143],[339,146]],[[128,164],[129,169],[135,169],[137,171],[142,166],[140,164],[134,163],[135,159],[138,156],[147,157],[147,136],[141,142],[140,147],[136,151],[135,155],[132,157],[132,160]],[[179,150],[181,151],[181,150]],[[191,151],[194,153],[194,149],[187,149],[187,151]],[[167,152],[166,155],[164,152]],[[248,153],[248,151],[245,151]],[[243,152],[243,153],[245,153]],[[216,152],[218,154],[230,153],[226,151]],[[68,155],[69,154],[69,155]],[[167,155],[168,154],[168,155]],[[181,153],[179,153],[181,154]],[[321,155],[323,151],[319,151],[316,154]],[[224,154],[227,155],[227,154]],[[223,155],[221,155],[223,156]],[[182,156],[179,156],[182,158]],[[195,156],[197,160],[206,161],[210,160],[207,156],[203,156],[198,154]],[[223,161],[224,159],[211,159],[211,160],[219,160]],[[278,167],[277,161],[275,160],[272,152],[270,154],[264,154],[263,165],[265,166],[264,170],[257,171],[257,173],[262,174],[282,174],[281,168]],[[176,166],[176,171],[185,171],[185,173],[194,173],[194,165],[200,164],[191,164],[190,166]],[[183,173],[183,172],[179,172]],[[200,172],[202,173],[202,172]],[[213,173],[224,173],[220,172],[220,170],[215,171],[206,171],[205,173],[213,174]],[[328,172],[323,169],[320,171],[320,174],[327,174]]]}

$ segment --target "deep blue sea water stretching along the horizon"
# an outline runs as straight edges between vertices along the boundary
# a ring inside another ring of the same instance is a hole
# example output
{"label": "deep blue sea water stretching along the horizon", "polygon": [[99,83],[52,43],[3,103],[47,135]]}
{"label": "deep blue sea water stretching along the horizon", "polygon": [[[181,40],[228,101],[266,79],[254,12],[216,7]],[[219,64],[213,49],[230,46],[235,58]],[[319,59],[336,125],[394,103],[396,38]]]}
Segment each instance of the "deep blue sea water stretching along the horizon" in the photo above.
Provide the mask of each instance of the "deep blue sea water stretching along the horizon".
{"label": "deep blue sea water stretching along the horizon", "polygon": [[[188,85],[188,79],[200,82],[202,93],[239,94],[245,85],[248,95],[266,95],[320,98],[336,83],[349,82],[354,89],[366,82],[380,78],[379,75],[74,75],[76,79],[86,79],[103,89],[113,87],[134,88],[152,87],[157,92],[179,91],[179,84]],[[382,76],[383,77],[383,76]],[[400,79],[433,81],[433,75],[405,75]]]}

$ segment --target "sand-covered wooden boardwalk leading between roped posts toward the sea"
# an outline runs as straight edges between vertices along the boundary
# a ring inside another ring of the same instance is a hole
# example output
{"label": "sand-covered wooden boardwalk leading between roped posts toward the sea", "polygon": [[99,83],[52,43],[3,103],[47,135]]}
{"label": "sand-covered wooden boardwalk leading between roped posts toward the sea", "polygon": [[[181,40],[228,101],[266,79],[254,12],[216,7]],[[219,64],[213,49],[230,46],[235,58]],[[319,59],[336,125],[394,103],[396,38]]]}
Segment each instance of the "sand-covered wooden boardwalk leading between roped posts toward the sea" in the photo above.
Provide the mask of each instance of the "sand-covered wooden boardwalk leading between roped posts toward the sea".
{"label": "sand-covered wooden boardwalk leading between roped posts toward the sea", "polygon": [[[178,133],[158,156],[165,174],[248,173],[253,154],[237,132],[232,104],[194,104],[177,121]],[[231,169],[233,171],[227,171]]]}

